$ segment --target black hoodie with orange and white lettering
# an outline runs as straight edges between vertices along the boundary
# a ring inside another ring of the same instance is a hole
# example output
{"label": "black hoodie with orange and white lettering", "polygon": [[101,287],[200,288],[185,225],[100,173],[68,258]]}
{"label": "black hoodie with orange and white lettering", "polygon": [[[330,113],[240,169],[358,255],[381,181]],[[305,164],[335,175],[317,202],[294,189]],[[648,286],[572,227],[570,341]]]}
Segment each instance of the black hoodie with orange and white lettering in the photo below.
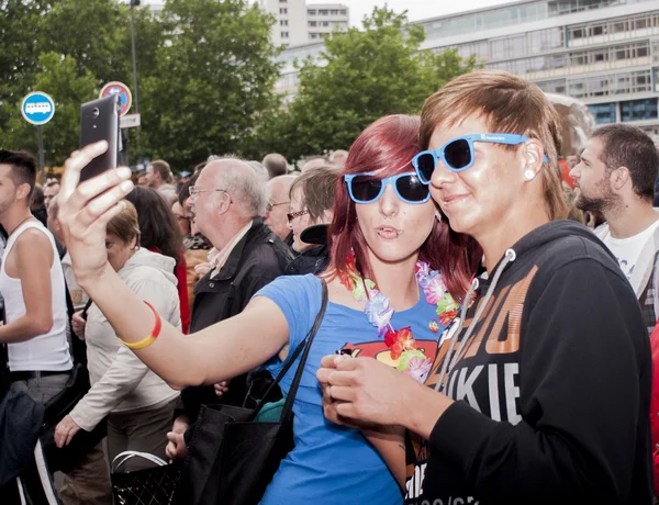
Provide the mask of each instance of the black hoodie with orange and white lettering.
{"label": "black hoodie with orange and white lettering", "polygon": [[613,256],[552,222],[473,289],[426,381],[456,402],[409,435],[405,503],[651,504],[650,348]]}

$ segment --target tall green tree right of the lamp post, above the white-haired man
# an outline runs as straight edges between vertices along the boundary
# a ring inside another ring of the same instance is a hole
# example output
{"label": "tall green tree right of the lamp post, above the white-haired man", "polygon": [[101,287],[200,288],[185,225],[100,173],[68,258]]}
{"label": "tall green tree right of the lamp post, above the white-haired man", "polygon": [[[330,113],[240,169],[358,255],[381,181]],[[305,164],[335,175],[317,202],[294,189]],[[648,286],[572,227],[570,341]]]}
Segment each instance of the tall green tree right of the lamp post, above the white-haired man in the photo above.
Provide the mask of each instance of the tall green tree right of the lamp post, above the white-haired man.
{"label": "tall green tree right of the lamp post, above the white-haired man", "polygon": [[176,170],[246,154],[275,103],[273,19],[245,0],[169,0],[161,22],[167,36],[141,86],[141,153]]}

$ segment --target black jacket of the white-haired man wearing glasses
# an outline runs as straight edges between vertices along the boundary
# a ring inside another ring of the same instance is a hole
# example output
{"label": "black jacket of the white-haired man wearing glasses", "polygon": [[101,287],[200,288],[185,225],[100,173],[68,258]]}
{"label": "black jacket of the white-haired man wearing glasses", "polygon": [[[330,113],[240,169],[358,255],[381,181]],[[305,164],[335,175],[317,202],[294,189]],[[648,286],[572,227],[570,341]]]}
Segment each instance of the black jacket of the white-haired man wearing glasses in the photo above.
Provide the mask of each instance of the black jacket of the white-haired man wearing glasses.
{"label": "black jacket of the white-haired man wearing glasses", "polygon": [[[283,273],[292,259],[291,249],[264,224],[261,217],[256,217],[222,270],[213,278],[210,271],[194,287],[190,333],[239,314],[258,290]],[[212,385],[186,388],[181,392],[181,401],[183,411],[193,422],[201,405],[225,403],[239,406],[246,393],[245,374],[231,381],[222,401]]]}

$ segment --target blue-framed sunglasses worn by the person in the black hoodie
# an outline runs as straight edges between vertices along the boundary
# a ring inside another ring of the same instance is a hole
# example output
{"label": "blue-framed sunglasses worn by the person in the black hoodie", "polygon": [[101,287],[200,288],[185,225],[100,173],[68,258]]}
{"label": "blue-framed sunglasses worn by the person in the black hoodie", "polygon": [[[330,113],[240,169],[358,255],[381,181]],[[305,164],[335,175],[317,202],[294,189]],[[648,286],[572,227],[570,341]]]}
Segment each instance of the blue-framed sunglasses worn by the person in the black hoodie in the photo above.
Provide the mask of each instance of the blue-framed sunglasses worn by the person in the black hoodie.
{"label": "blue-framed sunglasses worn by the person in the black hoodie", "polygon": [[[505,144],[509,146],[516,146],[530,141],[526,135],[515,135],[511,133],[478,133],[472,135],[462,135],[456,137],[453,141],[447,142],[437,150],[422,150],[413,159],[412,165],[418,179],[424,184],[431,183],[431,178],[435,168],[437,168],[437,161],[442,159],[446,168],[454,172],[460,172],[467,170],[473,165],[474,142],[489,142],[491,144]],[[547,156],[543,157],[543,161],[547,162]]]}

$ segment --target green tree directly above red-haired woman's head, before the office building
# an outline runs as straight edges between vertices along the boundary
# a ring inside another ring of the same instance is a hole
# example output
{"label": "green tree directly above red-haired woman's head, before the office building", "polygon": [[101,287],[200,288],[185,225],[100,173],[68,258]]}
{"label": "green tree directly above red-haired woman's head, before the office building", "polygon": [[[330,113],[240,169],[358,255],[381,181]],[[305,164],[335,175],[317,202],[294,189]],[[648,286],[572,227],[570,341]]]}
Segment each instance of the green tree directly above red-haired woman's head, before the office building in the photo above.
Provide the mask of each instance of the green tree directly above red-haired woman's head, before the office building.
{"label": "green tree directly above red-haired woman's head, before the office building", "polygon": [[324,60],[306,60],[293,102],[261,132],[261,145],[289,159],[348,148],[369,123],[393,113],[418,113],[424,100],[473,68],[455,50],[421,50],[425,32],[405,14],[376,8],[362,30],[325,40]]}

